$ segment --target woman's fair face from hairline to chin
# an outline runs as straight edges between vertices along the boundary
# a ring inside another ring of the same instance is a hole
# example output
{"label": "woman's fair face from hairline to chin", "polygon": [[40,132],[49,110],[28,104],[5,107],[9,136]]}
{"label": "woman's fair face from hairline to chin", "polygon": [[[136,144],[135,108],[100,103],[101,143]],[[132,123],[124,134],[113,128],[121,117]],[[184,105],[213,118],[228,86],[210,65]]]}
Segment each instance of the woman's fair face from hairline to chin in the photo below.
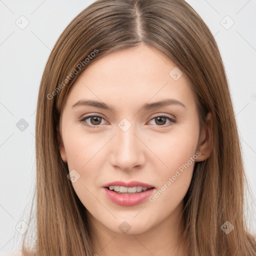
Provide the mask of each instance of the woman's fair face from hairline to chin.
{"label": "woman's fair face from hairline to chin", "polygon": [[[188,78],[145,45],[113,51],[83,71],[65,100],[60,135],[77,196],[96,221],[117,233],[122,227],[141,233],[177,216],[194,163],[203,160]],[[138,186],[137,192],[104,187],[119,181],[134,181],[127,186]],[[138,182],[153,188],[138,192]]]}

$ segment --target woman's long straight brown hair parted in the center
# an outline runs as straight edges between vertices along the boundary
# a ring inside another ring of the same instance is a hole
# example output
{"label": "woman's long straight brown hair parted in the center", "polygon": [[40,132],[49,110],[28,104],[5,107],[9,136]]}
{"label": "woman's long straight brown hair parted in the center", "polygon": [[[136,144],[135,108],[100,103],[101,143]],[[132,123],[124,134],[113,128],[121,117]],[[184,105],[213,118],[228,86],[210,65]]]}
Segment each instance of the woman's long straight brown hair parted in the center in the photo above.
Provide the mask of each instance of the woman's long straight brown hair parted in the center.
{"label": "woman's long straight brown hair parted in the center", "polygon": [[[68,90],[88,65],[115,49],[140,43],[157,48],[187,74],[201,125],[207,112],[212,113],[213,150],[195,163],[184,198],[187,253],[255,256],[256,242],[243,214],[247,183],[222,59],[208,27],[184,0],[98,0],[59,36],[38,93],[36,241],[28,248],[26,233],[23,255],[94,254],[85,208],[60,157],[59,117]],[[221,229],[226,221],[234,227],[228,234]]]}

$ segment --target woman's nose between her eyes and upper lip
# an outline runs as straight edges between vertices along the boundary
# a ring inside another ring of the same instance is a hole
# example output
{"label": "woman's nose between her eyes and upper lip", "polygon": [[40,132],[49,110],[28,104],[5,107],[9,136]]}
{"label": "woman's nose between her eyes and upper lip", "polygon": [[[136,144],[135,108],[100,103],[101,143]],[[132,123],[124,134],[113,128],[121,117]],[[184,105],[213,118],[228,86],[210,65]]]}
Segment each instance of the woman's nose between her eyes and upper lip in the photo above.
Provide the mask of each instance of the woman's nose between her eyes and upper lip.
{"label": "woman's nose between her eyes and upper lip", "polygon": [[119,127],[116,129],[117,134],[110,145],[110,163],[115,168],[128,171],[135,167],[141,168],[144,164],[145,145],[134,127],[135,125],[131,125],[126,131]]}

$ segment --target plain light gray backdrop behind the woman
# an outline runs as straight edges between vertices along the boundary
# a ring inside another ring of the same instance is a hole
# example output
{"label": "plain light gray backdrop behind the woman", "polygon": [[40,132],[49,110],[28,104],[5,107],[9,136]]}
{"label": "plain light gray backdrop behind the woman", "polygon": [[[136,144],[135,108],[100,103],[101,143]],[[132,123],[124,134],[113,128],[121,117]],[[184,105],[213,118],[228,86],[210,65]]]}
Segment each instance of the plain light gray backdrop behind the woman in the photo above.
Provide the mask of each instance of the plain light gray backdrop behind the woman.
{"label": "plain light gray backdrop behind the woman", "polygon": [[[26,221],[30,210],[35,182],[36,100],[46,60],[62,30],[92,2],[0,0],[0,255],[18,248],[22,234],[16,225]],[[245,213],[251,232],[256,233],[256,1],[187,2],[210,28],[225,65],[252,189]],[[24,29],[15,23],[25,24],[21,15],[29,21]],[[16,127],[21,118],[28,123],[23,131]]]}

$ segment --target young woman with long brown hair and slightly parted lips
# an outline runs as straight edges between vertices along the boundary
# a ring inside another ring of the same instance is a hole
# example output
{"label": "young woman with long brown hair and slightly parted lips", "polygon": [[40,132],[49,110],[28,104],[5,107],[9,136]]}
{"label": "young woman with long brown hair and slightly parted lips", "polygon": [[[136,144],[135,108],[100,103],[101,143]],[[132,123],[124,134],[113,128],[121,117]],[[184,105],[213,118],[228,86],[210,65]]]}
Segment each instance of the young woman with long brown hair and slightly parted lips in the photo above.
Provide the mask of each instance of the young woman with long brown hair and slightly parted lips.
{"label": "young woman with long brown hair and slightly parted lips", "polygon": [[23,255],[255,255],[223,63],[185,1],[81,11],[46,63],[36,138]]}

